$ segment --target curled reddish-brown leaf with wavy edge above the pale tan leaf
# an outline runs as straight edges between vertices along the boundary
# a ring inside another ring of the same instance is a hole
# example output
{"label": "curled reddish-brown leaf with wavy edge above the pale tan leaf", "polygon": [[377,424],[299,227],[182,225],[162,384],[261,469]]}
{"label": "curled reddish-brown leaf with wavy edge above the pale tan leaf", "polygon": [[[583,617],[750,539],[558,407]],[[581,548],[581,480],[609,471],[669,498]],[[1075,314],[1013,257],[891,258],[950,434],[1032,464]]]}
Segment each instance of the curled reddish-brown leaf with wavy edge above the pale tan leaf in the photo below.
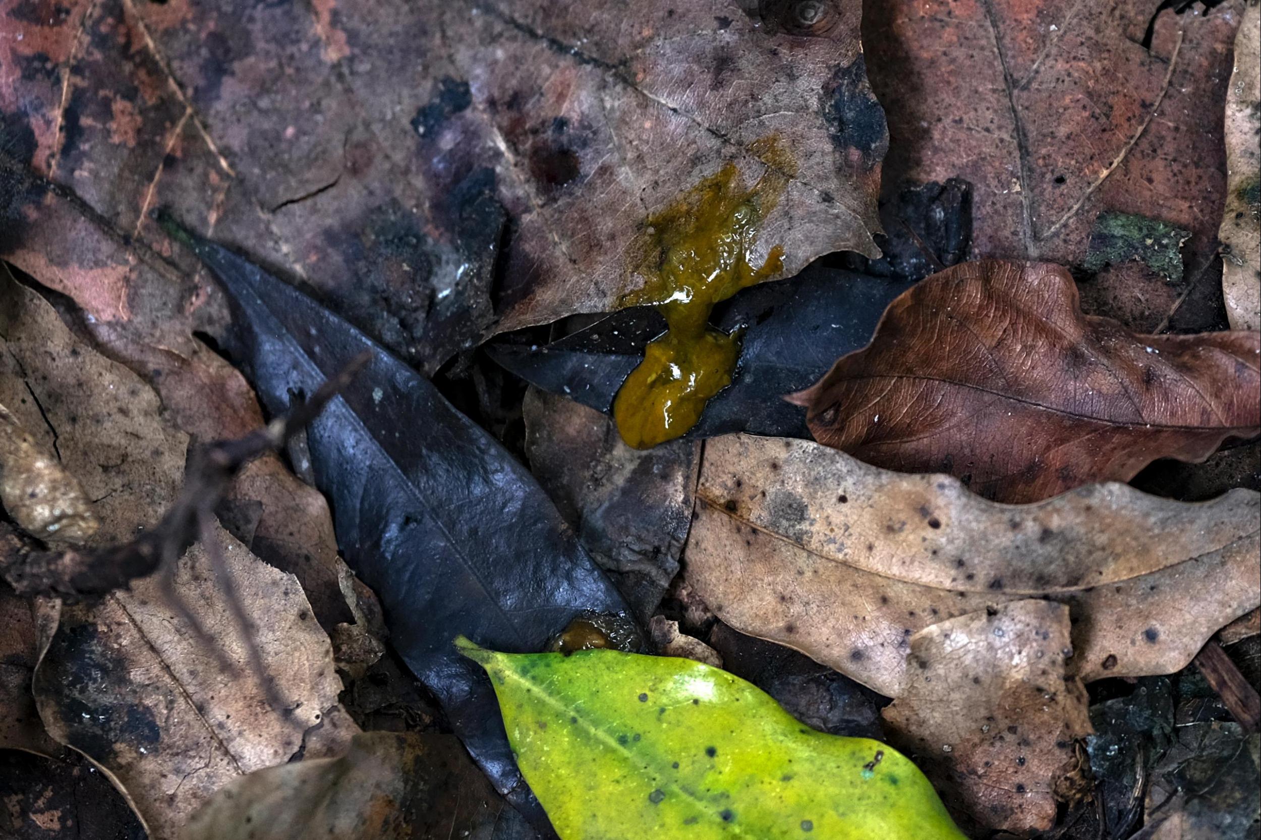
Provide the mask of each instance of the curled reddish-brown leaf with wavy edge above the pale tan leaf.
{"label": "curled reddish-brown leaf with wavy edge above the pale tan leaf", "polygon": [[1069,274],[986,260],[889,305],[871,343],[793,396],[815,439],[1002,502],[1203,460],[1261,431],[1261,334],[1135,335]]}

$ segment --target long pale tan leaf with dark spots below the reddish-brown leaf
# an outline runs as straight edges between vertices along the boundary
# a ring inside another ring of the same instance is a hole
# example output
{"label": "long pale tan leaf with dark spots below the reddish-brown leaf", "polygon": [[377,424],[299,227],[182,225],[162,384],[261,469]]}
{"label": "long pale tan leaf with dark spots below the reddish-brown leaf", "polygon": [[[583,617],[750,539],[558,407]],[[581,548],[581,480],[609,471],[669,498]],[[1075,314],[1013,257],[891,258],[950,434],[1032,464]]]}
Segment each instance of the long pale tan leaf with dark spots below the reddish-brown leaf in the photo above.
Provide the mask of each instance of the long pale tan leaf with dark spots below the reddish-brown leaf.
{"label": "long pale tan leaf with dark spots below the reddish-brown leaf", "polygon": [[897,697],[913,633],[1025,598],[1071,608],[1087,682],[1177,671],[1261,604],[1258,531],[1253,491],[1185,503],[1092,484],[997,505],[946,475],[731,435],[705,444],[683,559],[724,622]]}

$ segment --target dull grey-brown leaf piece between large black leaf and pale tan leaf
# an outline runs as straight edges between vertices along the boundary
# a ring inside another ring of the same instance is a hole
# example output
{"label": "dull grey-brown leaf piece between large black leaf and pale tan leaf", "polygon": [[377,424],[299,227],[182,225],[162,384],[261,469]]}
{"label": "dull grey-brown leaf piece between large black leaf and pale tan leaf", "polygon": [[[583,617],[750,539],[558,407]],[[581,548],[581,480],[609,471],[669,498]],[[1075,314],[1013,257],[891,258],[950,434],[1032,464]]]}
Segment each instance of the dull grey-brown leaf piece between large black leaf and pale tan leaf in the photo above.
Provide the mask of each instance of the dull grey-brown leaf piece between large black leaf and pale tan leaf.
{"label": "dull grey-brown leaf piece between large black leaf and pale tan leaf", "polygon": [[612,417],[533,388],[522,412],[531,472],[647,624],[678,574],[700,444],[632,449]]}

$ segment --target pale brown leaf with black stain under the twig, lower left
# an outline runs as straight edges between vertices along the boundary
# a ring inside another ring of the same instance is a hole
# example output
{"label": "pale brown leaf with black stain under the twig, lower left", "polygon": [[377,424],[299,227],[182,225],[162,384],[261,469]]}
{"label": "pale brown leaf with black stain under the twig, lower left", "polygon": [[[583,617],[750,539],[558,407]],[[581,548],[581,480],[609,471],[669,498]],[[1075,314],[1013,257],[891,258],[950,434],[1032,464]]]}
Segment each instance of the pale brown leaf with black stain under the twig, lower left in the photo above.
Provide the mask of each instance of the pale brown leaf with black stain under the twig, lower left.
{"label": "pale brown leaf with black stain under the twig, lower left", "polygon": [[236,672],[171,612],[151,578],[96,607],[66,607],[35,672],[49,734],[111,774],[153,840],[175,837],[233,778],[290,761],[306,732],[335,713],[342,690],[328,637],[293,576],[226,531],[216,539],[282,711],[248,671],[245,641],[200,545],[180,560],[175,589]]}

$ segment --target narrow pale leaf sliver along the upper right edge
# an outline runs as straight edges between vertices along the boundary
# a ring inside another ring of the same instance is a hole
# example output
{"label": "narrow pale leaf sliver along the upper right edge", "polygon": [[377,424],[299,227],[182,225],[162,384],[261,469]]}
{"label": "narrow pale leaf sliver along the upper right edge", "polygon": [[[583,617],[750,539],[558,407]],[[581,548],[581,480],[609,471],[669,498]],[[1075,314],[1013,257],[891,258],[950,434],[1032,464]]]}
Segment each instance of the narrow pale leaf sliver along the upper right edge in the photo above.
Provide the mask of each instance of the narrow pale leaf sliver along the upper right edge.
{"label": "narrow pale leaf sliver along the upper right edge", "polygon": [[1261,329],[1261,4],[1247,3],[1226,95],[1222,293],[1235,329]]}

